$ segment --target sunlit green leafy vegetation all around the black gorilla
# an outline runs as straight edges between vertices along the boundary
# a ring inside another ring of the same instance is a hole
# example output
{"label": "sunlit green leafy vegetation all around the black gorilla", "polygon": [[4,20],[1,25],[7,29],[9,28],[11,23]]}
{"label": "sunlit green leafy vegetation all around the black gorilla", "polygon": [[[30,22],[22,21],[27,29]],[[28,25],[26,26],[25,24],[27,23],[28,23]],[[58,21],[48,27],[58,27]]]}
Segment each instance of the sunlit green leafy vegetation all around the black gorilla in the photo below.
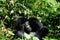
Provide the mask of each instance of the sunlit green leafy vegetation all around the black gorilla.
{"label": "sunlit green leafy vegetation all around the black gorilla", "polygon": [[48,27],[44,40],[60,40],[60,0],[0,0],[0,40],[11,40],[21,12],[26,18],[35,16]]}

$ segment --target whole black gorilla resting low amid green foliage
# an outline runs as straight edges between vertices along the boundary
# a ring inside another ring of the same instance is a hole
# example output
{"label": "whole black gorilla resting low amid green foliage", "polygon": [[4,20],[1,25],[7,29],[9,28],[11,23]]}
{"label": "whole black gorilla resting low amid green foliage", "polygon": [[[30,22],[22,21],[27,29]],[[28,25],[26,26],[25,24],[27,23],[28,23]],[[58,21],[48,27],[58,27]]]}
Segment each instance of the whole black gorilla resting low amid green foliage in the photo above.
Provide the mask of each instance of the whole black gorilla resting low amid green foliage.
{"label": "whole black gorilla resting low amid green foliage", "polygon": [[27,34],[33,34],[42,40],[42,37],[48,34],[47,27],[43,26],[41,22],[37,18],[30,17],[29,19],[20,16],[16,21],[16,37],[23,37],[24,32]]}

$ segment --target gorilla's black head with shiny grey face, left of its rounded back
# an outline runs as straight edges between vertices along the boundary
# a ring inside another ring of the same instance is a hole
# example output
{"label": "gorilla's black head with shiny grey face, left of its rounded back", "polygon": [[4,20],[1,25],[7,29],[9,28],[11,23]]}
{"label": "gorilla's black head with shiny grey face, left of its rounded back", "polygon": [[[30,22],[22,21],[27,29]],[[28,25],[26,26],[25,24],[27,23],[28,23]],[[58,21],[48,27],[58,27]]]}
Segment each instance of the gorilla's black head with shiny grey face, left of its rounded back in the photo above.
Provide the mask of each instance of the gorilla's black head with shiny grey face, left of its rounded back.
{"label": "gorilla's black head with shiny grey face, left of its rounded back", "polygon": [[17,19],[17,21],[16,21],[16,27],[15,27],[15,29],[17,30],[17,31],[20,31],[20,30],[22,30],[22,31],[24,31],[24,32],[26,32],[26,33],[30,33],[31,32],[31,27],[30,27],[30,25],[29,25],[29,21],[27,20],[27,18],[25,18],[25,17],[23,17],[23,16],[20,16],[18,19]]}

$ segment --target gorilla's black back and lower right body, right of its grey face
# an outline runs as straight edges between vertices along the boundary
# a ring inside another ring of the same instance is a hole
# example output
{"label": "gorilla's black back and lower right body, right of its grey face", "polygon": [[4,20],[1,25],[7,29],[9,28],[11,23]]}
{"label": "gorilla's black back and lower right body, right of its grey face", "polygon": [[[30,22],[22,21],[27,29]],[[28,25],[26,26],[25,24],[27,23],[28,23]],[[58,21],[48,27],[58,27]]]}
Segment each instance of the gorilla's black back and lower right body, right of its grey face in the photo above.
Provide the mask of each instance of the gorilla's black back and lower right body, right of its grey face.
{"label": "gorilla's black back and lower right body, right of its grey face", "polygon": [[43,26],[41,22],[37,18],[31,17],[29,18],[29,25],[32,28],[30,34],[38,37],[40,40],[43,40],[42,37],[48,34],[48,29],[46,26]]}

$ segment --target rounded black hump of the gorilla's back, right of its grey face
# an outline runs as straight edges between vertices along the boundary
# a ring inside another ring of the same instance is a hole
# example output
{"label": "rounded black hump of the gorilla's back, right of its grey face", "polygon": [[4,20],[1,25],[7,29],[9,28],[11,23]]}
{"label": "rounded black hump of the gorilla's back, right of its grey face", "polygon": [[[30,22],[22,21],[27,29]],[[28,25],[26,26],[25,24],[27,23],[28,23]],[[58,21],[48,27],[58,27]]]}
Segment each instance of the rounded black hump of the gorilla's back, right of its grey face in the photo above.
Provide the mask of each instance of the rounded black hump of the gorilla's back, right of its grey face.
{"label": "rounded black hump of the gorilla's back, right of its grey face", "polygon": [[39,22],[37,18],[34,17],[29,18],[29,25],[32,28],[32,32],[36,32],[38,29],[43,27],[43,24]]}

